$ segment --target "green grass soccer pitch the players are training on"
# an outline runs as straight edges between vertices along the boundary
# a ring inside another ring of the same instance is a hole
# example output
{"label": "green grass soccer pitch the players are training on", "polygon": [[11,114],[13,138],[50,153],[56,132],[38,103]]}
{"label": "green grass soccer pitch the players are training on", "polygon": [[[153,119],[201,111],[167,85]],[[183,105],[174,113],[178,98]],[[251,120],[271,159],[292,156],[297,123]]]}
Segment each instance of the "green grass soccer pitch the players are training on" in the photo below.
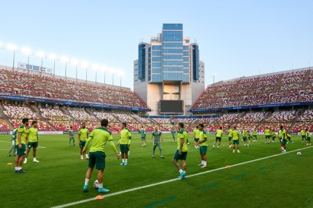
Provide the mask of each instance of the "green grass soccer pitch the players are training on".
{"label": "green grass soccer pitch the players are training on", "polygon": [[[166,159],[159,157],[158,148],[152,159],[150,134],[145,148],[134,134],[128,166],[120,166],[121,159],[106,146],[104,187],[111,191],[102,200],[94,199],[99,195],[93,188],[97,171],[88,192],[82,191],[88,160],[80,159],[75,136],[77,146],[69,146],[67,135],[40,135],[40,162],[32,162],[31,152],[29,162],[23,164],[26,173],[21,174],[13,173],[15,157],[7,156],[10,135],[1,135],[0,207],[54,207],[72,202],[77,202],[72,207],[313,207],[313,148],[301,143],[298,136],[292,137],[295,144],[288,144],[287,153],[281,154],[278,143],[265,145],[261,135],[249,148],[243,148],[241,141],[241,153],[227,148],[226,137],[213,150],[214,135],[209,135],[204,169],[197,166],[199,150],[193,147],[190,135],[187,177],[178,180],[179,172],[172,164],[177,143],[170,143],[170,134],[164,134],[162,145]],[[118,137],[113,135],[115,144]],[[296,155],[298,151],[302,156]],[[9,162],[13,165],[7,165]]]}

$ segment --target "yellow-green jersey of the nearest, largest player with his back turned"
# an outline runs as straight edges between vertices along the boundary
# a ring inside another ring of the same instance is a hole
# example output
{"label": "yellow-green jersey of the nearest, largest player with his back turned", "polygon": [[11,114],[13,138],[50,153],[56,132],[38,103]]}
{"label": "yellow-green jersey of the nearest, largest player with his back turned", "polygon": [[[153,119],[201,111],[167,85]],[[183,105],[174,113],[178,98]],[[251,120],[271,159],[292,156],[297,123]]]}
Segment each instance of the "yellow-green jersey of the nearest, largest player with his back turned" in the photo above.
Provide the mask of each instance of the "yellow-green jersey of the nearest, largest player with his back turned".
{"label": "yellow-green jersey of the nearest, largest player with his back turned", "polygon": [[[86,146],[92,141],[89,152],[104,152],[107,141],[113,141],[112,134],[109,130],[103,127],[95,128],[87,139]],[[86,147],[86,148],[87,148]]]}

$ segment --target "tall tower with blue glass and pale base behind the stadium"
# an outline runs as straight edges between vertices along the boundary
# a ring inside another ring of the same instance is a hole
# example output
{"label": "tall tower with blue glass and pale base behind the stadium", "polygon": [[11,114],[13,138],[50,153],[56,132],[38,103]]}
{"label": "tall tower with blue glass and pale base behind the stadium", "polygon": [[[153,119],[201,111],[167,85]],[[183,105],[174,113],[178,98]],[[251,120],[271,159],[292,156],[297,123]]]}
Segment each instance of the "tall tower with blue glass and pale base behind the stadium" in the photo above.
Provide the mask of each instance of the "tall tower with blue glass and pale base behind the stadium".
{"label": "tall tower with blue glass and pale base behind the stadium", "polygon": [[204,63],[199,60],[198,44],[183,36],[183,24],[163,24],[150,43],[138,44],[134,92],[149,105],[151,114],[159,114],[161,100],[183,100],[188,112],[203,89]]}

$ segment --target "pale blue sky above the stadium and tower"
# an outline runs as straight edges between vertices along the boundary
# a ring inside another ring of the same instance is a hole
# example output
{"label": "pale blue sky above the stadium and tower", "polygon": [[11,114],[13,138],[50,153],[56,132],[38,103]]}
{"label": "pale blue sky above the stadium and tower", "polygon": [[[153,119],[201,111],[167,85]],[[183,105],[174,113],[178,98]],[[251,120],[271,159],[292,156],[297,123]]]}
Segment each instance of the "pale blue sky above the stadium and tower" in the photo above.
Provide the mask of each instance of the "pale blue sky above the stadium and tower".
{"label": "pale blue sky above the stadium and tower", "polygon": [[[197,40],[206,85],[313,64],[313,1],[2,1],[0,43],[29,47],[59,57],[86,60],[123,70],[122,86],[133,88],[138,42],[149,42],[163,23],[184,24],[184,36]],[[0,64],[12,66],[13,52],[0,49]],[[15,64],[27,62],[16,53]],[[41,60],[31,55],[30,64]],[[53,68],[53,61],[43,60]],[[56,62],[56,74],[65,64]],[[86,78],[79,67],[79,78]],[[104,72],[97,73],[104,82]],[[75,67],[67,67],[75,76]],[[95,71],[88,70],[88,80]],[[106,83],[112,84],[111,73]],[[115,85],[120,78],[115,76]]]}

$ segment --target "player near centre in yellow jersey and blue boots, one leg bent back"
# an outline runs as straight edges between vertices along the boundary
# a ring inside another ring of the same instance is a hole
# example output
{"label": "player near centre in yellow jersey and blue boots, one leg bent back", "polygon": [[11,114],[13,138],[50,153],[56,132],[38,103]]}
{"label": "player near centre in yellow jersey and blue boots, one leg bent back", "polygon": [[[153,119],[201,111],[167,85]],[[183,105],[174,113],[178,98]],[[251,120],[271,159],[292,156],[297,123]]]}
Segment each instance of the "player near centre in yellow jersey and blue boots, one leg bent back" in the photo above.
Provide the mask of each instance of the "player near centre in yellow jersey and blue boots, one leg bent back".
{"label": "player near centre in yellow jersey and blue boots, one leg bent back", "polygon": [[[177,135],[177,150],[175,152],[172,162],[175,164],[175,167],[179,171],[179,180],[185,178],[186,175],[186,158],[188,153],[187,148],[187,139],[188,133],[184,130],[184,123],[178,123],[178,135]],[[179,165],[178,160],[182,160],[182,167]]]}

